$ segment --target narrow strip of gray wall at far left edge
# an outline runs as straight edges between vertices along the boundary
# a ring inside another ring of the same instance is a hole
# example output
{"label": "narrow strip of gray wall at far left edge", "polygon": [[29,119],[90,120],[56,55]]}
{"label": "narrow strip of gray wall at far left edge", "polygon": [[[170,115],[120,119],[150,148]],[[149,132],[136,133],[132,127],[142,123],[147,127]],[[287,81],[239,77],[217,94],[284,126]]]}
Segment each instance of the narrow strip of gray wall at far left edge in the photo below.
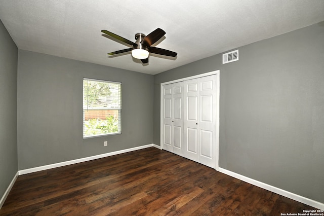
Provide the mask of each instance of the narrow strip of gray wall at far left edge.
{"label": "narrow strip of gray wall at far left edge", "polygon": [[18,49],[0,21],[0,199],[18,171]]}

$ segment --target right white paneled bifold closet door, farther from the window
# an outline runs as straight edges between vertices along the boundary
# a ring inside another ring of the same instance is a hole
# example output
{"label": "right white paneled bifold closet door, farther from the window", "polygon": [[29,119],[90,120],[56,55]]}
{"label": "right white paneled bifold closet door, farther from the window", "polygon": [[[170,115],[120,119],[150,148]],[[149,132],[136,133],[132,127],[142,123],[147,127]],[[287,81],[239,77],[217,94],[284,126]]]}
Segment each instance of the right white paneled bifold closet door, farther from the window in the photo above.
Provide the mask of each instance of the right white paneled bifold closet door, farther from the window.
{"label": "right white paneled bifold closet door, farther from the window", "polygon": [[216,166],[216,76],[184,83],[184,157]]}

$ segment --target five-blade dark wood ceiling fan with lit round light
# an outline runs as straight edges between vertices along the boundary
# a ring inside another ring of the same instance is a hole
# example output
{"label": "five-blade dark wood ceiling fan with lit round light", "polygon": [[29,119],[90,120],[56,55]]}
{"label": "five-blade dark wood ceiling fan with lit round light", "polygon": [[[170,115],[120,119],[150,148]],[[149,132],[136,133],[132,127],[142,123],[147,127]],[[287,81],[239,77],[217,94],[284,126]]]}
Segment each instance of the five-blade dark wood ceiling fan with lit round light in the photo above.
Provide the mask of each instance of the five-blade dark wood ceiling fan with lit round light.
{"label": "five-blade dark wood ceiling fan with lit round light", "polygon": [[108,34],[109,36],[113,37],[114,39],[117,39],[121,42],[124,42],[126,44],[132,45],[133,48],[128,48],[124,50],[118,50],[115,52],[108,53],[108,55],[115,55],[120,53],[126,53],[132,51],[132,56],[137,59],[141,59],[143,64],[148,63],[148,55],[149,53],[155,53],[158,55],[165,55],[165,56],[172,56],[176,57],[177,53],[172,52],[170,50],[165,50],[157,47],[151,47],[152,44],[157,42],[160,38],[163,37],[163,35],[166,34],[166,32],[160,28],[156,28],[154,31],[149,33],[147,36],[143,33],[137,33],[135,34],[136,42],[132,42],[127,40],[126,38],[120,37],[117,34],[114,34],[107,30],[101,30],[101,32]]}

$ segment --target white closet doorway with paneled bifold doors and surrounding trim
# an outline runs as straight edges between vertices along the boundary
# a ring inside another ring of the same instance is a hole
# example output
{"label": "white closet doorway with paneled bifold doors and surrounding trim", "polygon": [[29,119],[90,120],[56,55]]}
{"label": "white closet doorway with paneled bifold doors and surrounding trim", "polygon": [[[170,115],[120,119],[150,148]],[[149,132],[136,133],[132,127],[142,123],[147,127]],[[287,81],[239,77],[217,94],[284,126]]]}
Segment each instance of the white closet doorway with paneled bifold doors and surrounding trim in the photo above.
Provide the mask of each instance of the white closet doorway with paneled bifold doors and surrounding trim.
{"label": "white closet doorway with paneled bifold doors and surrounding trim", "polygon": [[161,148],[218,169],[219,70],[161,83]]}

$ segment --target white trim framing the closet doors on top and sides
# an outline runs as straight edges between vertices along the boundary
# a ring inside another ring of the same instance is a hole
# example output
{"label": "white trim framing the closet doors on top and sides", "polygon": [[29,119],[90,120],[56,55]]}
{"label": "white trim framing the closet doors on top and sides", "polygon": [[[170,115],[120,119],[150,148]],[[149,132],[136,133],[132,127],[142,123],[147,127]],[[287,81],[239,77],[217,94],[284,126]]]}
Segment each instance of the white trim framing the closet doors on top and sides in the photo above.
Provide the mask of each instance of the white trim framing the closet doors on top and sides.
{"label": "white trim framing the closet doors on top and sides", "polygon": [[201,77],[207,77],[211,75],[216,75],[216,164],[215,164],[215,169],[218,171],[219,166],[218,166],[218,160],[219,160],[219,98],[220,98],[220,70],[214,70],[208,73],[204,74],[199,74],[191,77],[186,77],[186,78],[181,78],[178,80],[173,80],[173,81],[168,81],[165,83],[160,84],[160,146],[161,149],[162,147],[162,134],[163,134],[163,86],[167,84],[172,84],[172,83],[178,83],[186,80],[191,80],[191,79],[196,79],[196,78],[201,78]]}

